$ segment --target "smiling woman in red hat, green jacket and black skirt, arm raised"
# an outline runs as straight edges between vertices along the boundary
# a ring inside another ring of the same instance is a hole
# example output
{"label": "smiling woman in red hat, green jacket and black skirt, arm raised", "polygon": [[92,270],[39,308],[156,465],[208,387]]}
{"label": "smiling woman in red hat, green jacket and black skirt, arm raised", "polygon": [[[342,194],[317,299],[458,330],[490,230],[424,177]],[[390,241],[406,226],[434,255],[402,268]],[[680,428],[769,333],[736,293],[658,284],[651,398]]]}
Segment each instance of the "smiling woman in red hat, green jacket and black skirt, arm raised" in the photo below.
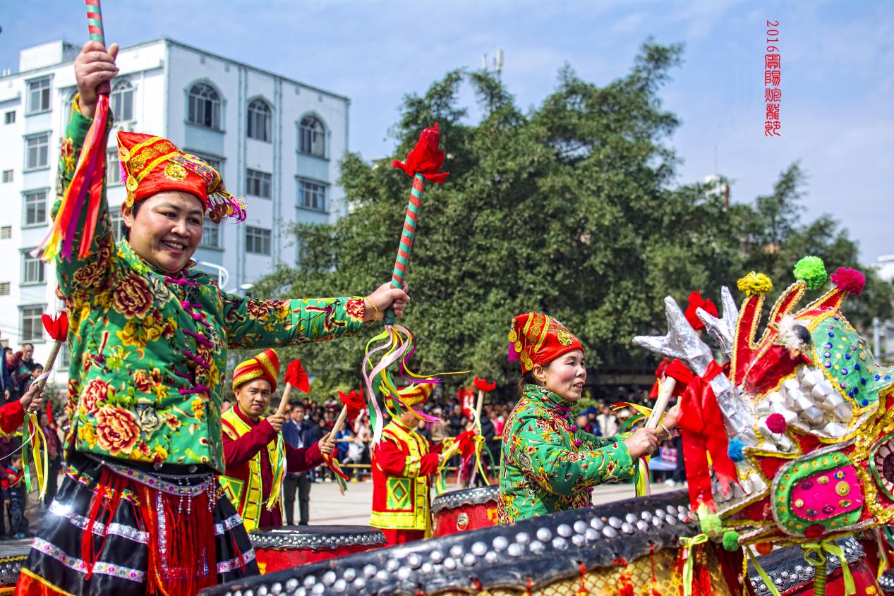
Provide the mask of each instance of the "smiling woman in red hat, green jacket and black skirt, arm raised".
{"label": "smiling woman in red hat, green jacket and black skirt, arm raised", "polygon": [[89,200],[68,202],[69,187],[82,188],[81,170],[74,176],[82,150],[105,152],[111,122],[101,139],[90,124],[97,92],[117,72],[115,55],[116,45],[106,52],[89,42],[74,64],[79,95],[53,210],[54,233],[64,233],[46,253],[55,255],[72,321],[69,467],[21,570],[20,594],[194,594],[257,573],[215,476],[224,472],[227,349],[358,333],[389,306],[401,315],[408,300],[388,284],[366,298],[224,292],[190,257],[205,216],[241,221],[244,200],[214,168],[160,137],[118,135],[130,238],[115,244],[105,189],[89,186]]}

